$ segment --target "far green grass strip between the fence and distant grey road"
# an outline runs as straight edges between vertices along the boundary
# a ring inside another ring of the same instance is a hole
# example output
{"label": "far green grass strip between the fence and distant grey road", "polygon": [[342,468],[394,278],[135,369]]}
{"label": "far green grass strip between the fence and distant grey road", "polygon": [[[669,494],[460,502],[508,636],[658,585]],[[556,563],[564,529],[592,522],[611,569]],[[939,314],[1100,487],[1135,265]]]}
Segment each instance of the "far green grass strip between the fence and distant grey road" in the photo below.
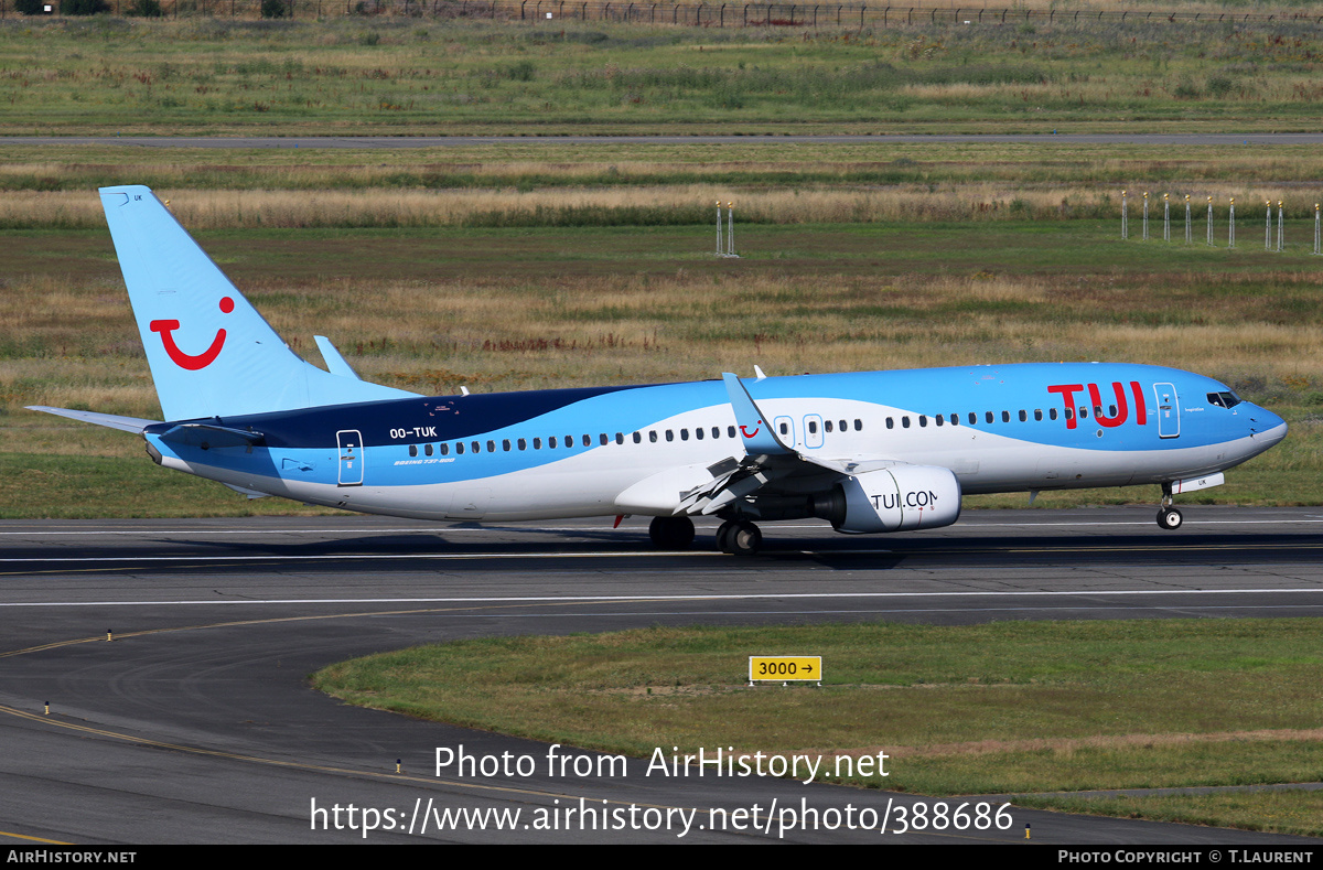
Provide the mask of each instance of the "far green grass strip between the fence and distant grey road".
{"label": "far green grass strip between the fence and distant grey road", "polygon": [[[1282,22],[0,21],[11,134],[1312,130]],[[1253,58],[1253,59],[1248,59]]]}

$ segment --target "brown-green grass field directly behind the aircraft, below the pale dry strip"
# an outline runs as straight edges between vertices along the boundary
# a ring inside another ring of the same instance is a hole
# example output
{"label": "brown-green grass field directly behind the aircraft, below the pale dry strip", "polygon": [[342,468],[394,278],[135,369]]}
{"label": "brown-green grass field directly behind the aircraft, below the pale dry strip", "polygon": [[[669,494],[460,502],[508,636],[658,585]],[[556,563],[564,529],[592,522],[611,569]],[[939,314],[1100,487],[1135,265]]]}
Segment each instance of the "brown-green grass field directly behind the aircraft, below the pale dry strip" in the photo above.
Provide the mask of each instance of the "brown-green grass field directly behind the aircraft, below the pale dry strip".
{"label": "brown-green grass field directly behind the aircraft, below the pale dry strip", "polygon": [[[740,260],[708,254],[712,231],[693,226],[200,238],[296,350],[318,360],[311,336],[328,335],[364,377],[425,393],[696,379],[754,364],[774,374],[1094,358],[1179,365],[1221,377],[1294,426],[1286,443],[1201,498],[1316,501],[1323,266],[1306,251],[1099,238],[1114,235],[1113,225],[754,225],[737,227]],[[108,241],[52,230],[11,238],[24,253],[0,296],[12,324],[0,342],[3,450],[139,457],[136,439],[22,410],[159,414]],[[175,477],[146,460],[126,473]],[[149,510],[37,498],[21,476],[5,489],[11,516]],[[200,508],[253,509],[217,498]],[[1039,504],[1154,498],[1086,492]]]}

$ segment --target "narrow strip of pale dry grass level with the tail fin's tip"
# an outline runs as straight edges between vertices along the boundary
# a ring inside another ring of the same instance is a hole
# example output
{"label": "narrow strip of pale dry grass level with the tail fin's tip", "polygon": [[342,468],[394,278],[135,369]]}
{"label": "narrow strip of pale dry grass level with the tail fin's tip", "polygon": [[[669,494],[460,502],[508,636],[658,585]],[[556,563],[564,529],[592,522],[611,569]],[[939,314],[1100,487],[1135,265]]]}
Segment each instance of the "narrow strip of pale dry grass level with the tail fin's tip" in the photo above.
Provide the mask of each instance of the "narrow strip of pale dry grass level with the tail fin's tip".
{"label": "narrow strip of pale dry grass level with the tail fin's tip", "polygon": [[[197,230],[217,227],[430,227],[430,226],[695,226],[714,221],[716,204],[734,204],[745,223],[910,223],[996,222],[1098,218],[1121,214],[1121,190],[1098,185],[912,184],[885,189],[848,189],[826,185],[792,189],[740,189],[713,184],[635,186],[554,186],[532,190],[426,189],[404,190],[204,190],[164,188],[161,198]],[[1189,189],[1192,182],[1185,182]],[[1262,230],[1265,202],[1291,202],[1291,218],[1312,217],[1323,185],[1286,188],[1281,184],[1199,184],[1192,216],[1203,241],[1207,201],[1216,202],[1217,221],[1225,223],[1232,196],[1238,202],[1242,233]],[[191,196],[181,196],[181,193]],[[1205,192],[1211,192],[1207,193]],[[721,193],[726,200],[720,200]],[[1129,192],[1136,233],[1143,192]],[[738,197],[736,200],[736,197]],[[1183,238],[1184,201],[1177,190],[1171,204],[1175,231]],[[1162,194],[1151,197],[1151,219],[1162,221]],[[1119,218],[1118,218],[1119,219]],[[0,227],[50,226],[93,229],[105,223],[101,202],[87,190],[22,190],[0,200]],[[1119,222],[1118,222],[1119,226]],[[1221,237],[1224,227],[1218,227]],[[1293,229],[1295,229],[1293,226]],[[1158,226],[1158,233],[1162,229]],[[1307,238],[1297,230],[1295,238]],[[1244,238],[1244,237],[1242,237]],[[1225,242],[1218,238],[1218,242]],[[1242,242],[1244,243],[1244,242]]]}

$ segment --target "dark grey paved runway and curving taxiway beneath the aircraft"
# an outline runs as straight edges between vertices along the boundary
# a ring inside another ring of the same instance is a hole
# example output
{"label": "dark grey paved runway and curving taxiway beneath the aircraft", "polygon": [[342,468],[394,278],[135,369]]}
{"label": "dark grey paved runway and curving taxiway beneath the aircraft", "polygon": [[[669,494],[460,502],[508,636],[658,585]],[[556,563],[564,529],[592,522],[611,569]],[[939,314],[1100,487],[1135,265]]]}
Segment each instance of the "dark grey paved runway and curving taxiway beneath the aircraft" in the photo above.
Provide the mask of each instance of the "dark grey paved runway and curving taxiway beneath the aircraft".
{"label": "dark grey paved runway and curving taxiway beneath the aircraft", "polygon": [[[534,759],[548,747],[347,707],[304,678],[332,661],[426,641],[658,623],[1323,615],[1323,510],[1193,506],[1176,533],[1158,529],[1152,514],[979,512],[950,529],[869,538],[769,524],[766,550],[751,562],[656,553],[632,521],[618,530],[607,521],[479,528],[369,517],[4,522],[0,842],[361,838],[311,830],[312,801],[392,809],[402,826],[429,803],[520,811],[523,825],[581,799],[589,809],[632,807],[632,821],[610,817],[630,825],[667,811],[672,822],[581,830],[576,816],[572,830],[460,825],[368,836],[392,842],[730,842],[775,840],[775,822],[770,834],[700,830],[709,808],[757,805],[757,821],[804,805],[882,814],[889,800],[916,799],[787,780],[664,779],[644,776],[644,763],[610,777],[549,777],[542,764],[528,777],[437,777],[437,747]],[[675,811],[693,808],[681,838]],[[1009,812],[1004,832],[885,841],[1024,842],[1025,824],[1039,844],[1282,840]],[[785,838],[881,837],[819,829]]]}

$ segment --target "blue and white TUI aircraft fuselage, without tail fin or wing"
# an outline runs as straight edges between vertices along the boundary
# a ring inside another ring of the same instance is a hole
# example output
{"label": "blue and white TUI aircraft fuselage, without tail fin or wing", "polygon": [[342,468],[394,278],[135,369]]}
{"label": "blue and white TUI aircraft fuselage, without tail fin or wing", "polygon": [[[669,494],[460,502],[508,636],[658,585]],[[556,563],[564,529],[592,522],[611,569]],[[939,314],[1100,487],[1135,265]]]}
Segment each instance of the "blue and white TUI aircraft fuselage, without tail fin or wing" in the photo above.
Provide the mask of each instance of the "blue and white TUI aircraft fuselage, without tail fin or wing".
{"label": "blue and white TUI aircraft fuselage, without tail fin or wing", "polygon": [[[1160,484],[1220,472],[1285,435],[1281,418],[1158,366],[1021,364],[745,381],[804,456],[950,468],[964,493]],[[146,438],[163,464],[366,513],[445,520],[669,514],[622,502],[668,469],[746,454],[721,381],[406,398],[212,418],[262,435],[217,444]],[[222,439],[224,440],[224,439]],[[814,477],[799,489],[811,492]],[[827,485],[823,481],[823,485]],[[681,489],[673,493],[677,504]],[[900,493],[904,497],[905,493]],[[792,513],[792,512],[791,512]],[[790,514],[787,514],[790,516]]]}

